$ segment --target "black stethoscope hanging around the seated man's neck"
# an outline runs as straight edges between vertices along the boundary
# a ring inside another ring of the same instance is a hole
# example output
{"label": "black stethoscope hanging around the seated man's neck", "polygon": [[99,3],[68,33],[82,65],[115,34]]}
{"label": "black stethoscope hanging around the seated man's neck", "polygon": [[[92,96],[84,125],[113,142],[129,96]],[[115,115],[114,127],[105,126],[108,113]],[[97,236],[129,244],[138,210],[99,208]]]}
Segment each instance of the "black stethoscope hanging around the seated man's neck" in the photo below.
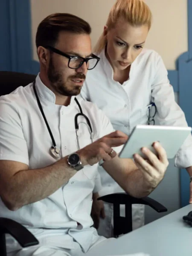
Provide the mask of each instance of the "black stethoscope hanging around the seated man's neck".
{"label": "black stethoscope hanging around the seated man's neck", "polygon": [[[52,154],[53,157],[55,158],[60,158],[61,157],[61,152],[59,150],[59,148],[57,148],[56,146],[56,143],[55,143],[55,139],[52,135],[52,131],[49,127],[49,124],[47,122],[47,119],[46,119],[46,116],[44,114],[44,111],[43,111],[43,108],[42,108],[42,105],[41,105],[41,102],[39,100],[39,97],[38,97],[38,94],[37,94],[37,90],[35,88],[35,81],[33,81],[33,90],[34,90],[34,93],[35,93],[35,97],[37,99],[37,103],[38,103],[38,107],[41,111],[41,114],[44,118],[44,121],[45,121],[45,124],[47,126],[47,129],[49,131],[49,135],[51,137],[51,140],[52,140],[52,146],[50,148],[50,152]],[[88,119],[88,117],[83,113],[82,111],[82,108],[81,108],[81,105],[79,104],[78,100],[75,98],[75,101],[79,107],[79,110],[80,110],[80,113],[76,114],[75,115],[75,129],[76,129],[76,139],[77,139],[77,147],[78,147],[78,150],[80,149],[80,145],[79,145],[79,124],[78,124],[78,117],[79,116],[83,116],[85,119],[86,119],[86,122],[87,122],[87,125],[89,126],[89,133],[90,133],[90,139],[91,139],[91,143],[93,143],[93,130],[92,130],[92,127],[91,127],[91,124],[90,124],[90,121]]]}

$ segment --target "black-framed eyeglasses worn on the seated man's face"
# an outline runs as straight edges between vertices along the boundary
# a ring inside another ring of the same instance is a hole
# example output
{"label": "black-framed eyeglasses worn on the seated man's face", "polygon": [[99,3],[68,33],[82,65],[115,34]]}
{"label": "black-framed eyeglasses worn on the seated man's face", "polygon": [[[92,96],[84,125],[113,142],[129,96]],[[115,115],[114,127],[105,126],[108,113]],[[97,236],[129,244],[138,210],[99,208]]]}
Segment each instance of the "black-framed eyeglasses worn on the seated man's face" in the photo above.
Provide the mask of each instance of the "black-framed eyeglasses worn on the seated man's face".
{"label": "black-framed eyeglasses worn on the seated man's face", "polygon": [[68,55],[64,52],[61,52],[60,50],[52,47],[52,46],[45,46],[46,49],[49,49],[52,52],[55,52],[59,55],[62,55],[66,58],[69,59],[68,61],[68,67],[72,68],[72,69],[78,69],[79,67],[81,67],[84,62],[86,62],[87,64],[87,70],[92,70],[94,67],[96,67],[97,63],[99,62],[100,58],[97,57],[96,55],[92,54],[92,56],[90,58],[83,58],[80,56],[71,56]]}

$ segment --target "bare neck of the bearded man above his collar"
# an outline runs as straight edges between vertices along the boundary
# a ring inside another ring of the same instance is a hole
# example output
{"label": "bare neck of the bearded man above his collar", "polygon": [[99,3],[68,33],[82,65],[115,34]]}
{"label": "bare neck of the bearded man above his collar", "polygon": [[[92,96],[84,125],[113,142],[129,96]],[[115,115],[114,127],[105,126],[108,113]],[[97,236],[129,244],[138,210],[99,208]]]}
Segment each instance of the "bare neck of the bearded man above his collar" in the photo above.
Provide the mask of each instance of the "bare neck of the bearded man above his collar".
{"label": "bare neck of the bearded man above his collar", "polygon": [[50,82],[49,79],[47,78],[47,76],[44,76],[44,74],[42,74],[40,72],[39,77],[42,81],[42,83],[47,86],[47,88],[49,88],[49,90],[51,90],[54,94],[55,94],[55,104],[56,105],[63,105],[63,106],[68,106],[70,105],[70,101],[71,101],[71,96],[64,96],[61,94],[58,94],[57,92],[55,92],[55,90],[50,86]]}

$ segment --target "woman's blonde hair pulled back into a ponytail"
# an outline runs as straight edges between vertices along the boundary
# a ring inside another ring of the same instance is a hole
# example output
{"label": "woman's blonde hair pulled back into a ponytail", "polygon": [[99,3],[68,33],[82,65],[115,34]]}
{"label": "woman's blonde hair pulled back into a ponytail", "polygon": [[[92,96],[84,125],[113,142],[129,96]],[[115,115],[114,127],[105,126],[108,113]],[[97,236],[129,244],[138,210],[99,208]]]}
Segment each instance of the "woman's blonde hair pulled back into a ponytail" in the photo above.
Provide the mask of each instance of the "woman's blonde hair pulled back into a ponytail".
{"label": "woman's blonde hair pulled back into a ponytail", "polygon": [[[119,18],[124,18],[132,26],[148,25],[148,29],[151,28],[152,14],[144,0],[116,0],[106,23],[109,30],[114,28]],[[106,39],[102,33],[96,43],[94,52],[99,54],[105,48],[105,45]]]}

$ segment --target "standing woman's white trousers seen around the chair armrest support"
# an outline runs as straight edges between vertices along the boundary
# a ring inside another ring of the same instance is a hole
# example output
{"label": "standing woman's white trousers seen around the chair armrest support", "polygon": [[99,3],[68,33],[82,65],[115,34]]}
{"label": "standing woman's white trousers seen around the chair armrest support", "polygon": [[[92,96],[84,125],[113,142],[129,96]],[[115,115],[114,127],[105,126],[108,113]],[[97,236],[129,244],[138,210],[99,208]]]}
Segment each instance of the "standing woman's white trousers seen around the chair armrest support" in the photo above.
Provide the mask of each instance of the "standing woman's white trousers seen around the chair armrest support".
{"label": "standing woman's white trousers seen around the chair armrest support", "polygon": [[[100,218],[99,229],[97,230],[99,236],[106,238],[113,237],[113,204],[105,203],[105,219]],[[125,217],[125,206],[120,205],[120,215]],[[142,227],[145,224],[145,206],[143,204],[132,205],[132,225],[133,230]]]}

